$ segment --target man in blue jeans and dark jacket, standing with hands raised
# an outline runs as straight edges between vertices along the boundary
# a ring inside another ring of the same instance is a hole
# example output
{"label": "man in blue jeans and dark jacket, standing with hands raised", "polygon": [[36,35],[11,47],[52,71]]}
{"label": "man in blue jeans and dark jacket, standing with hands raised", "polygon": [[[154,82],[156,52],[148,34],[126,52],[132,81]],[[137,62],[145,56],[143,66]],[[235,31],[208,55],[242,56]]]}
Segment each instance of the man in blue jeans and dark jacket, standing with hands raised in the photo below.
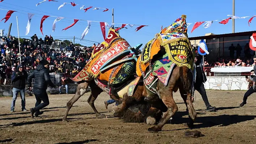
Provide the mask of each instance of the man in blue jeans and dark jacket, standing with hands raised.
{"label": "man in blue jeans and dark jacket, standing with hands raised", "polygon": [[12,97],[12,104],[10,112],[14,112],[15,102],[20,92],[21,95],[21,111],[26,112],[26,100],[25,100],[25,85],[26,85],[26,78],[27,72],[23,70],[22,65],[18,65],[17,71],[14,71],[12,74],[12,85],[13,85],[13,97]]}

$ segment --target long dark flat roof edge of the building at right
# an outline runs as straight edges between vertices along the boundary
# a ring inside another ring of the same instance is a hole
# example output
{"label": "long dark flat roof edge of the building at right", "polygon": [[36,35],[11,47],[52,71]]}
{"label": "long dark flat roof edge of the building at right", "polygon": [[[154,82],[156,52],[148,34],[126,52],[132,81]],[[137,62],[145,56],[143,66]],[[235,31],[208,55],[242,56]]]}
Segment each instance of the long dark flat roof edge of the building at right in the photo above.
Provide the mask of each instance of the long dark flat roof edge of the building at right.
{"label": "long dark flat roof edge of the building at right", "polygon": [[220,35],[208,35],[208,36],[197,36],[188,38],[189,40],[201,40],[201,39],[217,39],[217,38],[226,38],[234,36],[251,36],[256,31],[246,31],[246,32],[236,32],[230,34],[220,34]]}

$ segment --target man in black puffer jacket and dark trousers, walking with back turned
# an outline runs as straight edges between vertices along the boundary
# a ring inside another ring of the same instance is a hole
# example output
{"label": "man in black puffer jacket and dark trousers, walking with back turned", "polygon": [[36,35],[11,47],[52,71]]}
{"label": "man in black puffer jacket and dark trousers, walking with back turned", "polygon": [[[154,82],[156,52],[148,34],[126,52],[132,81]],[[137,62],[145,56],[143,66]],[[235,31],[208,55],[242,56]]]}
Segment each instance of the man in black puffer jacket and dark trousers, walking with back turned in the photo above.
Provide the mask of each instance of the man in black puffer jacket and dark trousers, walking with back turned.
{"label": "man in black puffer jacket and dark trousers, walking with back turned", "polygon": [[[52,83],[50,74],[49,74],[49,63],[46,60],[42,60],[39,62],[37,69],[35,69],[27,78],[27,82],[29,84],[29,88],[31,90],[31,80],[34,78],[34,87],[33,93],[35,95],[35,99],[37,102],[35,103],[35,107],[30,109],[31,118],[37,117],[43,112],[39,110],[49,105],[49,98],[46,93],[47,85],[54,87],[55,85]],[[41,103],[43,101],[43,103]]]}

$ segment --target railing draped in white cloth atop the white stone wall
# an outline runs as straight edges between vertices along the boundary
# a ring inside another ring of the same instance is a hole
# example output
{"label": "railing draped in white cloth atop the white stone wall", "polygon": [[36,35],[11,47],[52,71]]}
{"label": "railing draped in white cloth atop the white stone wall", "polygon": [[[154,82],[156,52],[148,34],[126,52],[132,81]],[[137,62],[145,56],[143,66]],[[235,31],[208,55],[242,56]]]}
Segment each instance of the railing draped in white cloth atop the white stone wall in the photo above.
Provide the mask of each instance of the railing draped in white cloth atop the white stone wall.
{"label": "railing draped in white cloth atop the white stone wall", "polygon": [[[213,70],[213,68],[215,70]],[[227,71],[229,70],[230,71]],[[236,72],[234,68],[241,69],[241,72]],[[219,71],[216,69],[219,69]],[[225,71],[222,71],[225,69]],[[204,67],[204,73],[206,77],[225,77],[225,76],[246,76],[250,74],[250,71],[253,70],[252,66],[214,66],[214,67]]]}

